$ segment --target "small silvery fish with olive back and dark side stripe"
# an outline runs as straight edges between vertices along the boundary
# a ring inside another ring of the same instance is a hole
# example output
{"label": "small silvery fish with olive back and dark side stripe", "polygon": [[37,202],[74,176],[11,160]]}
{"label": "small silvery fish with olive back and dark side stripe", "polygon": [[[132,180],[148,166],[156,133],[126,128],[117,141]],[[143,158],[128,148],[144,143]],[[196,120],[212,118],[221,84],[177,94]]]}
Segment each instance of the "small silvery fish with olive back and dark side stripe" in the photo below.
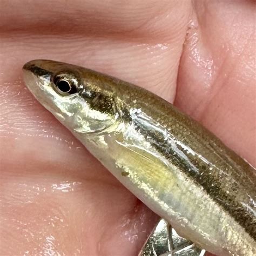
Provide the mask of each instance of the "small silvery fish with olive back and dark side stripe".
{"label": "small silvery fish with olive back and dark side stripe", "polygon": [[217,255],[256,255],[255,169],[203,126],[141,87],[52,60],[25,84],[135,196]]}

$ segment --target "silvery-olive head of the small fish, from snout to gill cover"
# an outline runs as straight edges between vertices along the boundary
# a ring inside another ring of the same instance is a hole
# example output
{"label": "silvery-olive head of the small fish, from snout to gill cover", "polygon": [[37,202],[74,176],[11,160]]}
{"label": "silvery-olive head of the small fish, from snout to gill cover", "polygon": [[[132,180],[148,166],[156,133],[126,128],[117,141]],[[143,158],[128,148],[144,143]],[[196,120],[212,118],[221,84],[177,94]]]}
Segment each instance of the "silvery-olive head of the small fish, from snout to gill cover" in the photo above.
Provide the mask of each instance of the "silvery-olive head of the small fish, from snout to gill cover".
{"label": "silvery-olive head of the small fish, from snout to gill cover", "polygon": [[25,85],[72,132],[115,129],[118,111],[110,81],[95,71],[53,60],[23,66]]}

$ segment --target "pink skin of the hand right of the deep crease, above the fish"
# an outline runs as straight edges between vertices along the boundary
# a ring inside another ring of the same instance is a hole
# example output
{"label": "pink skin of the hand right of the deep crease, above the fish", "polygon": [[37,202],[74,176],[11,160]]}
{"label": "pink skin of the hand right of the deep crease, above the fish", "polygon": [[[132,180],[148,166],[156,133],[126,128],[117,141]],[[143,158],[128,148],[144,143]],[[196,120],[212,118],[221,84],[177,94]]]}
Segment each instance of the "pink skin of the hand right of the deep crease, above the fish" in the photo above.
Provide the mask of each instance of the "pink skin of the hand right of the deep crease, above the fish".
{"label": "pink skin of the hand right of the deep crease, above the fish", "polygon": [[255,166],[255,4],[194,3],[175,103]]}

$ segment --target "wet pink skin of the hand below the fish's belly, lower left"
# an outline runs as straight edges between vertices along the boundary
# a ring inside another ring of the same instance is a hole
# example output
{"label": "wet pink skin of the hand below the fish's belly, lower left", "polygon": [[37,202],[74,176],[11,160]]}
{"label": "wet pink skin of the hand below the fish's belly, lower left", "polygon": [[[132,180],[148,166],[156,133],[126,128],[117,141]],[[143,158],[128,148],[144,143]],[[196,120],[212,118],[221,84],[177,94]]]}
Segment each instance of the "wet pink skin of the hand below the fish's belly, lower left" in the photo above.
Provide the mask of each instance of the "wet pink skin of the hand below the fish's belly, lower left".
{"label": "wet pink skin of the hand below the fish's belly, lower left", "polygon": [[23,84],[5,85],[4,90],[1,253],[137,252],[157,217],[39,106]]}

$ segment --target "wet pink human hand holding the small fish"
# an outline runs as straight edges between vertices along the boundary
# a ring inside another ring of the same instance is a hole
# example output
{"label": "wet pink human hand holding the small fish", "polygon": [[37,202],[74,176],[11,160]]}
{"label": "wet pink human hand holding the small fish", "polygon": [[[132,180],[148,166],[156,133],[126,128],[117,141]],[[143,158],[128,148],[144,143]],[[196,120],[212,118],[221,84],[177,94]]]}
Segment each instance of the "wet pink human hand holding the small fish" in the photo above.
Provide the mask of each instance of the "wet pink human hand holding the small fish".
{"label": "wet pink human hand holding the small fish", "polygon": [[254,14],[242,0],[2,0],[0,255],[136,255],[158,219],[25,89],[25,62],[143,86],[255,166]]}

